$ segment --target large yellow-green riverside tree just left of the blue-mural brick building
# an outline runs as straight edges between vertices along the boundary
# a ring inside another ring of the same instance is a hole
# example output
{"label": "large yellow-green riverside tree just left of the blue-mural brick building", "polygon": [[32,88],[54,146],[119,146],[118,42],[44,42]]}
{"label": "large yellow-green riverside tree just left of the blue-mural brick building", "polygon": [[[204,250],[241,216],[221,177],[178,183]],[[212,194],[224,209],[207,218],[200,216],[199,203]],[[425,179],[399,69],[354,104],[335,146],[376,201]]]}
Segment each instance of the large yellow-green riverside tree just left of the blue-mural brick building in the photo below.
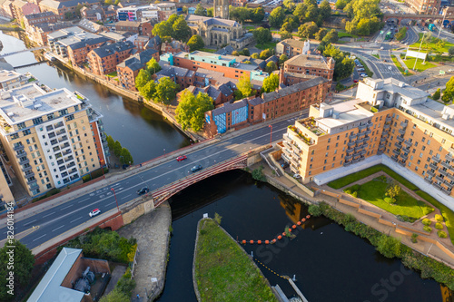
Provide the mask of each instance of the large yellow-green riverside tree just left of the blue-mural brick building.
{"label": "large yellow-green riverside tree just left of the blue-mural brick building", "polygon": [[204,113],[214,108],[212,102],[212,98],[207,93],[194,96],[185,89],[176,107],[175,119],[182,125],[183,130],[191,128],[192,131],[198,132],[203,127]]}

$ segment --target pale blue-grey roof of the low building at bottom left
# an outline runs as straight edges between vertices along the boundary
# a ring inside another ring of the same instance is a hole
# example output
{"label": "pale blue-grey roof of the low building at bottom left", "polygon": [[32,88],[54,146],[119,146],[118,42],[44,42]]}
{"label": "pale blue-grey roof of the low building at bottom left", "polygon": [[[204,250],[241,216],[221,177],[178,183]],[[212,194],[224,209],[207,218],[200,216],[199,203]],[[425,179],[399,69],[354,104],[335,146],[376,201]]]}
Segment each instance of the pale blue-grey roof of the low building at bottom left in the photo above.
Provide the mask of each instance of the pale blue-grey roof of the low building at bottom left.
{"label": "pale blue-grey roof of the low building at bottom left", "polygon": [[82,301],[84,292],[60,286],[81,253],[80,248],[63,248],[28,301],[49,302],[55,301],[56,297],[64,297],[65,301]]}

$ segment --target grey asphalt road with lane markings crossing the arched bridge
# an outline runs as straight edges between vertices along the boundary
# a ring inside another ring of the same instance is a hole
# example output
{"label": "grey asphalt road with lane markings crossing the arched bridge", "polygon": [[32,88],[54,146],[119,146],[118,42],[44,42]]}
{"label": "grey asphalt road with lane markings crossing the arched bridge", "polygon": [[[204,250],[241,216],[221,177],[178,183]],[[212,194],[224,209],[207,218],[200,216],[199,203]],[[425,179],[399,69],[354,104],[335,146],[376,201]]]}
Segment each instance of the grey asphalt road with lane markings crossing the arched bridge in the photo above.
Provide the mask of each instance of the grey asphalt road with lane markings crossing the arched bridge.
{"label": "grey asphalt road with lane markings crossing the arched bridge", "polygon": [[[270,143],[271,129],[268,127],[269,124],[272,125],[272,140],[279,141],[282,134],[287,132],[287,126],[302,117],[307,117],[307,113],[301,113],[300,116],[291,120],[266,122],[260,129],[213,143],[206,148],[186,154],[188,159],[185,161],[178,162],[174,158],[169,159],[169,161],[158,166],[109,184],[100,190],[86,193],[74,200],[37,213],[30,218],[15,221],[15,234],[39,226],[39,229],[20,239],[27,248],[35,248],[45,241],[92,219],[88,215],[92,209],[101,209],[102,213],[114,209],[116,204],[111,188],[114,188],[118,203],[121,205],[136,198],[136,191],[145,186],[153,191],[183,178],[191,173],[190,170],[194,165],[201,164],[203,168],[207,168],[217,162],[229,160],[244,151],[249,151],[250,148],[257,148]],[[0,229],[0,234],[0,240],[5,239],[6,228]]]}

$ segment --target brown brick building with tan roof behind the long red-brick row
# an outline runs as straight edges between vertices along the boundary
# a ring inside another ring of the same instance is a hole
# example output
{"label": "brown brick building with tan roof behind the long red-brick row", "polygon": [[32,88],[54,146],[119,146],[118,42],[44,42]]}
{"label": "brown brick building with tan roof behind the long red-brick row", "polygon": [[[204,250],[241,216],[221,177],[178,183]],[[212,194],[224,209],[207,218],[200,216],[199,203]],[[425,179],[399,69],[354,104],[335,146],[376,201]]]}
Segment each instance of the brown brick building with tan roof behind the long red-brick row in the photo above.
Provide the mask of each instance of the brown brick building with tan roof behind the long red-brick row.
{"label": "brown brick building with tan roof behind the long red-brick row", "polygon": [[321,76],[331,82],[335,63],[333,58],[325,58],[322,55],[298,54],[285,61],[283,71]]}

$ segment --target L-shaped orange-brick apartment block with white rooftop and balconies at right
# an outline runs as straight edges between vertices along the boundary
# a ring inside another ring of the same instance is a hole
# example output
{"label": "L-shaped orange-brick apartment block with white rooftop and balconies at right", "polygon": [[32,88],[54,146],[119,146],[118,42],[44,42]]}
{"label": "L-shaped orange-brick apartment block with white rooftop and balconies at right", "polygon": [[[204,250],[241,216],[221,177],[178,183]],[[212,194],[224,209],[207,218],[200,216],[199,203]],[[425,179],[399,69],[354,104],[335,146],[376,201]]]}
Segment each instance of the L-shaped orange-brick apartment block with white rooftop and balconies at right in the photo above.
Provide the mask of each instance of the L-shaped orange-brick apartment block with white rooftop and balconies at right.
{"label": "L-shaped orange-brick apartment block with white rooftop and balconies at right", "polygon": [[283,135],[282,157],[310,182],[382,154],[452,197],[454,105],[428,96],[395,79],[365,79],[357,99],[311,106]]}

